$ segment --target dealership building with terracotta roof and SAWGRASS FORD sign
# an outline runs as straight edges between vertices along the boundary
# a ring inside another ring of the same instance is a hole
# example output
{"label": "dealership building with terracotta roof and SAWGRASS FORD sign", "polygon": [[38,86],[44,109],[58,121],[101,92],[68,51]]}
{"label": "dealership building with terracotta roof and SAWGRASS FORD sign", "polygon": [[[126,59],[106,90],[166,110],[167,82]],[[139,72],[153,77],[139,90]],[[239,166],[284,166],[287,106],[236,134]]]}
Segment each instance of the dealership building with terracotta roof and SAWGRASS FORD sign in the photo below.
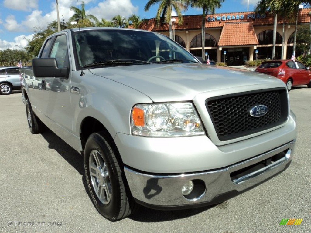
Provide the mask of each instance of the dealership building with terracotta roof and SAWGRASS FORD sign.
{"label": "dealership building with terracotta roof and SAWGRASS FORD sign", "polygon": [[[311,9],[299,9],[298,25],[310,25]],[[201,24],[202,15],[183,16],[183,24],[178,25],[178,17],[172,18],[174,39],[193,55],[202,57]],[[273,43],[274,16],[257,14],[253,11],[219,13],[206,15],[205,54],[211,60],[228,65],[241,65],[245,61],[271,58]],[[151,18],[140,29],[169,35],[169,25],[157,26],[156,19]],[[288,59],[293,53],[295,21],[277,20],[276,59]],[[284,36],[284,51],[282,43]],[[296,54],[298,55],[298,54]]]}

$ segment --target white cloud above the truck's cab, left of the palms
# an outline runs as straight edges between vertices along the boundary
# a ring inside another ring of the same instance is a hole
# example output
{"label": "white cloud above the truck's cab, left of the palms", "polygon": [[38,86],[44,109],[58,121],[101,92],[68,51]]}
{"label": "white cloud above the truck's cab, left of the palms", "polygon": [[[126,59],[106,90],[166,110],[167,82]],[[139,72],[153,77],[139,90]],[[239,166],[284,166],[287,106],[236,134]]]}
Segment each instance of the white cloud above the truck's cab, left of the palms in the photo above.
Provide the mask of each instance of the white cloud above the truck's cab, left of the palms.
{"label": "white cloud above the truck's cab, left of the palms", "polygon": [[97,7],[87,11],[87,13],[94,15],[99,20],[102,18],[111,20],[116,15],[129,17],[132,14],[137,14],[137,12],[138,7],[134,7],[130,0],[105,0],[98,3]]}

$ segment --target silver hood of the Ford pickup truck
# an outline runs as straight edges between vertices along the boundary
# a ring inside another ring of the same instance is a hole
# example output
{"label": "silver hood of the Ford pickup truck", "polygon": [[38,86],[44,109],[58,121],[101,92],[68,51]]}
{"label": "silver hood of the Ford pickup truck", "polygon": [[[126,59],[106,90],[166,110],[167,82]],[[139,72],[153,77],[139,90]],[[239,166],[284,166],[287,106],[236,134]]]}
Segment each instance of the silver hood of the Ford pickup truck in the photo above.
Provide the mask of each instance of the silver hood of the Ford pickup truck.
{"label": "silver hood of the Ford pickup truck", "polygon": [[[155,102],[192,100],[198,93],[249,85],[282,86],[269,75],[204,64],[150,64],[90,69],[146,94]],[[284,85],[284,84],[283,84]]]}

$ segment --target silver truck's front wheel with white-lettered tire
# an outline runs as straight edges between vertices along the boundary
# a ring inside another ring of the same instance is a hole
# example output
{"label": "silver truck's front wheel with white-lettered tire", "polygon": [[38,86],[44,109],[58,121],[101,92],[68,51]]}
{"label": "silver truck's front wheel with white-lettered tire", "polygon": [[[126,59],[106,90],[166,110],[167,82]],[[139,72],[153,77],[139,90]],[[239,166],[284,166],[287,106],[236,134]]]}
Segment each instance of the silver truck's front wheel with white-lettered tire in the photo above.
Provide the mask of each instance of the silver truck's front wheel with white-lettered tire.
{"label": "silver truck's front wheel with white-lettered tire", "polygon": [[137,208],[116,158],[116,149],[103,132],[86,141],[84,168],[91,199],[101,215],[111,221],[129,216]]}

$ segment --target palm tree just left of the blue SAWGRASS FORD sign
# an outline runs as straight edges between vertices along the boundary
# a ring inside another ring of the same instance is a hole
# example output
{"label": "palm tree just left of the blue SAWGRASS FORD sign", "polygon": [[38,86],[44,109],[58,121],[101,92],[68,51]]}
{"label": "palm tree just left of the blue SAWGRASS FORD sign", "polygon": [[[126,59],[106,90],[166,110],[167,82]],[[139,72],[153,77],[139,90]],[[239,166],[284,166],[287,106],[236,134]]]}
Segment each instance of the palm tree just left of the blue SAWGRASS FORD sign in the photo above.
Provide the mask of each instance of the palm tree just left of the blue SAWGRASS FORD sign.
{"label": "palm tree just left of the blue SAWGRASS FORD sign", "polygon": [[205,56],[205,18],[206,15],[211,13],[215,14],[216,8],[221,7],[221,3],[224,2],[225,0],[193,0],[191,2],[192,7],[197,7],[197,8],[202,8],[203,13],[202,13],[202,60],[204,60]]}

